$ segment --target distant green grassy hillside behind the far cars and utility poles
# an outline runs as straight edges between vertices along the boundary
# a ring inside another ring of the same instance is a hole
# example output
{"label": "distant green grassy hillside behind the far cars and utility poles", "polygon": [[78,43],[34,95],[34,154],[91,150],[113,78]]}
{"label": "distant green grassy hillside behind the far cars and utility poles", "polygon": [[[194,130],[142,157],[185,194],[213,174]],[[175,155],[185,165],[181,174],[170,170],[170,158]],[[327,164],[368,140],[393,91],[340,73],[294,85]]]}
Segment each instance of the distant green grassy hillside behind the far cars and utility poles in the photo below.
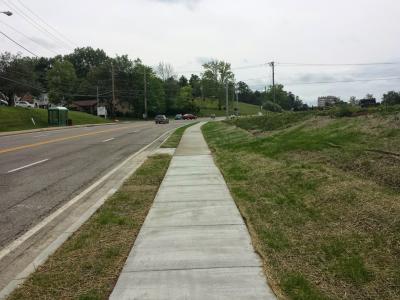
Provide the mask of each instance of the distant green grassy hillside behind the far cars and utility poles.
{"label": "distant green grassy hillside behind the far cars and utility poles", "polygon": [[[215,114],[217,117],[226,116],[226,111],[223,108],[222,110],[218,110],[218,100],[205,99],[204,101],[201,99],[196,99],[196,104],[200,107],[199,116],[201,117],[209,117],[212,114]],[[225,106],[225,104],[224,104]],[[234,113],[234,108],[236,107],[236,102],[230,102],[229,105],[229,114]],[[260,111],[260,107],[257,105],[252,105],[248,103],[239,102],[239,113],[242,116],[245,115],[256,115]],[[265,112],[265,111],[263,111]]]}

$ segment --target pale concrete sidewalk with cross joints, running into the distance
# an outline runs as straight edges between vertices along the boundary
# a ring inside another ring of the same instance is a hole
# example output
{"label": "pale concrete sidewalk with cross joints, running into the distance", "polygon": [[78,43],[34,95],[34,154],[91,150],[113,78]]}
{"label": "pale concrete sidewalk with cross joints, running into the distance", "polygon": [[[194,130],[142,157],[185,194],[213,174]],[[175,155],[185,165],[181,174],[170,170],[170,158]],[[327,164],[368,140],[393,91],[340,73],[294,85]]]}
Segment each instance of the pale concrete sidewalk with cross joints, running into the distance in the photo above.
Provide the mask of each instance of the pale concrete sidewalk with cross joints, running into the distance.
{"label": "pale concrete sidewalk with cross joints, running into the distance", "polygon": [[202,124],[183,135],[110,299],[276,299]]}

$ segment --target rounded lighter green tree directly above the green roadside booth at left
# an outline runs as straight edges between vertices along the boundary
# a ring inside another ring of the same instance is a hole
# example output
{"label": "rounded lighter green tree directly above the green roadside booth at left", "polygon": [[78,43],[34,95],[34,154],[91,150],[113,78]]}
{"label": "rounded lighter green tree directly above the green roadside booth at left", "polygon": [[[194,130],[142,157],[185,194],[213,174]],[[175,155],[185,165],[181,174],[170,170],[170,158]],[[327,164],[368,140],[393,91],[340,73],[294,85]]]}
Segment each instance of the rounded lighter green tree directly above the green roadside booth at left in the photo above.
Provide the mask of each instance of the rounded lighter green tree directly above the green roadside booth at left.
{"label": "rounded lighter green tree directly above the green roadside booth at left", "polygon": [[57,60],[47,72],[49,100],[53,103],[70,102],[76,85],[76,73],[72,63]]}

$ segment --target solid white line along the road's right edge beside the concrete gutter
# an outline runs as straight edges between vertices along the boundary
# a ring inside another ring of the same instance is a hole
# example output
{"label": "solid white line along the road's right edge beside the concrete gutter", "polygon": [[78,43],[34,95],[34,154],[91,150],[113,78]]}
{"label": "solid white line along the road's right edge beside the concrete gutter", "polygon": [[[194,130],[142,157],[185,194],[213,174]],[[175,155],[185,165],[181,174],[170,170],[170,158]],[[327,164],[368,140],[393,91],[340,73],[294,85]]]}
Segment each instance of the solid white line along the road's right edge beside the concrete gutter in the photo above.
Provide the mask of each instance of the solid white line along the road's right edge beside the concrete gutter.
{"label": "solid white line along the road's right edge beside the concrete gutter", "polygon": [[[181,127],[181,126],[179,126]],[[47,224],[49,224],[51,221],[53,221],[56,217],[61,215],[65,210],[67,210],[69,207],[74,205],[76,202],[78,202],[80,199],[85,197],[88,193],[90,193],[92,190],[94,190],[96,187],[98,187],[101,183],[103,183],[105,180],[107,180],[112,174],[114,174],[116,171],[118,171],[124,164],[126,164],[130,159],[133,157],[139,155],[143,151],[145,151],[147,148],[151,147],[153,144],[155,144],[158,140],[162,139],[165,135],[168,135],[171,131],[174,131],[177,128],[173,128],[171,130],[168,130],[167,132],[163,133],[160,135],[158,138],[156,138],[154,141],[152,141],[150,144],[147,146],[144,146],[142,149],[139,151],[135,152],[131,156],[129,156],[127,159],[125,159],[122,163],[120,163],[118,166],[116,166],[114,169],[109,171],[106,175],[104,175],[102,178],[97,180],[95,183],[93,183],[91,186],[86,188],[82,193],[77,195],[76,197],[72,198],[69,202],[65,203],[63,206],[61,206],[59,209],[57,209],[54,213],[43,219],[41,222],[36,224],[34,227],[32,227],[29,231],[27,231],[25,234],[11,242],[9,245],[1,249],[0,251],[0,260],[2,260],[6,255],[14,251],[16,248],[18,248],[22,243],[24,243],[26,240],[28,240],[30,237],[32,237],[34,234],[36,234],[39,230],[41,230],[43,227],[45,227]]]}

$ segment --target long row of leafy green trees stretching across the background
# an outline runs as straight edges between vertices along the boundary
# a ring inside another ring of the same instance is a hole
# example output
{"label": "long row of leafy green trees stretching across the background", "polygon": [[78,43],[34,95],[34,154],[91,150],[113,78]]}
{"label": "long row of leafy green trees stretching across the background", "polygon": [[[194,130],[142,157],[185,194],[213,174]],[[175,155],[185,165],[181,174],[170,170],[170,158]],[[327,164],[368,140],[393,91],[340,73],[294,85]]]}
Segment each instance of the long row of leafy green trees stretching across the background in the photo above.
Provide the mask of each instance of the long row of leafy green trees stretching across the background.
{"label": "long row of leafy green trees stretching across the background", "polygon": [[218,109],[224,109],[227,91],[230,101],[238,93],[241,102],[263,105],[273,111],[307,109],[299,97],[285,91],[282,85],[275,86],[274,98],[272,87],[260,92],[251,90],[243,81],[235,83],[231,65],[220,60],[203,64],[200,76],[192,74],[186,78],[177,77],[167,63],[151,67],[139,58],[131,60],[128,55],[112,58],[91,47],[51,58],[0,54],[0,92],[10,99],[10,105],[15,95],[25,93],[33,96],[47,93],[50,102],[67,106],[72,101],[98,97],[112,115],[120,114],[123,106],[124,114],[142,117],[145,97],[149,115],[172,115],[198,113],[196,98],[212,99]]}

